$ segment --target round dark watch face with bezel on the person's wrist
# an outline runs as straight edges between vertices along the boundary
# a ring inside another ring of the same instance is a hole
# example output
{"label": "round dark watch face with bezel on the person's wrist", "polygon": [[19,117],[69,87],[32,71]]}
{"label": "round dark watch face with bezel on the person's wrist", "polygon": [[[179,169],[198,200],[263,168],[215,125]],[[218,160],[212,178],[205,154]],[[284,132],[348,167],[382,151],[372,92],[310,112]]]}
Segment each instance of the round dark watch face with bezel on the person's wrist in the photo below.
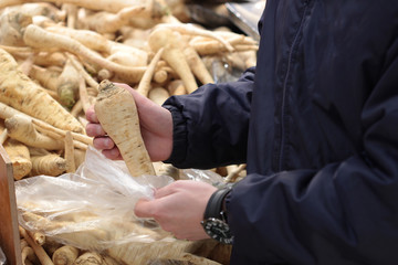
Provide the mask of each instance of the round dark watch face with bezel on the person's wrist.
{"label": "round dark watch face with bezel on the person's wrist", "polygon": [[233,236],[229,229],[229,225],[214,218],[209,218],[201,222],[206,233],[210,235],[211,239],[217,240],[224,244],[232,244]]}

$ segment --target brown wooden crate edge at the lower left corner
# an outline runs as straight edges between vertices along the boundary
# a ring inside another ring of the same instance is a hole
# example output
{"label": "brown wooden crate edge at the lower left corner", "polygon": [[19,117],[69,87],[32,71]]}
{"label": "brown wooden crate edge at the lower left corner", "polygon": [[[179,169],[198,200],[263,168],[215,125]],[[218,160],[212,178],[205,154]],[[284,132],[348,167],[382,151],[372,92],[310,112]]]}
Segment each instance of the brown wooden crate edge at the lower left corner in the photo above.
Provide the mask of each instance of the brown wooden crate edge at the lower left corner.
{"label": "brown wooden crate edge at the lower left corner", "polygon": [[0,145],[0,246],[8,265],[22,264],[12,165]]}

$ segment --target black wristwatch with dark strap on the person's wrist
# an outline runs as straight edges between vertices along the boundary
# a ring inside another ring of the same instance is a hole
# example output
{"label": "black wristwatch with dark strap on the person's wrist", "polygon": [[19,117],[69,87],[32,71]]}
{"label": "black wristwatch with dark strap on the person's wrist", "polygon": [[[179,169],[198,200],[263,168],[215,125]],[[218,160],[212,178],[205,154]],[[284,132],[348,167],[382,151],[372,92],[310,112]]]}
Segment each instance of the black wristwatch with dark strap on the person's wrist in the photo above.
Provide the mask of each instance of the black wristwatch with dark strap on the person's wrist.
{"label": "black wristwatch with dark strap on the person's wrist", "polygon": [[223,244],[232,244],[233,235],[227,222],[227,209],[223,205],[226,197],[231,192],[231,188],[217,190],[209,199],[203,214],[201,225],[211,239]]}

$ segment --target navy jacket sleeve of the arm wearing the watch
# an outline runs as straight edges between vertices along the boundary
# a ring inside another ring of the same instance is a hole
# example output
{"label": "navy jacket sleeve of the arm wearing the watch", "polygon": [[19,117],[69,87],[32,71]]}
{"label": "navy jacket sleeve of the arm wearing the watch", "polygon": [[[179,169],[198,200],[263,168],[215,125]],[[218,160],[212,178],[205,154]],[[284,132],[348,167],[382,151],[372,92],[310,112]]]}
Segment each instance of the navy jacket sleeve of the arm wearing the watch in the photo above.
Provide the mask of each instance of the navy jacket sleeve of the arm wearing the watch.
{"label": "navy jacket sleeve of the arm wearing the watch", "polygon": [[234,261],[397,264],[397,40],[386,55],[362,110],[363,152],[316,171],[249,174],[233,188],[227,208]]}

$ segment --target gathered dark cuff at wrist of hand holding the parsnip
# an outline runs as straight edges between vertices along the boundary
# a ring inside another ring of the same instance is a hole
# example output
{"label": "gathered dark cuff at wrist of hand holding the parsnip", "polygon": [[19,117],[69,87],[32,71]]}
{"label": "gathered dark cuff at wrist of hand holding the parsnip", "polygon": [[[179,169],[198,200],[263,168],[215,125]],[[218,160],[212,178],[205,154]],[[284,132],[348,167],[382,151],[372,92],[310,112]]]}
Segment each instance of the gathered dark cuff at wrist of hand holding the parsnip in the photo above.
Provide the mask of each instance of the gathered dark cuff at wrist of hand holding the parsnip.
{"label": "gathered dark cuff at wrist of hand holding the parsnip", "polygon": [[187,157],[187,120],[177,107],[171,105],[163,107],[168,109],[172,117],[172,150],[170,157],[164,162],[179,165]]}

